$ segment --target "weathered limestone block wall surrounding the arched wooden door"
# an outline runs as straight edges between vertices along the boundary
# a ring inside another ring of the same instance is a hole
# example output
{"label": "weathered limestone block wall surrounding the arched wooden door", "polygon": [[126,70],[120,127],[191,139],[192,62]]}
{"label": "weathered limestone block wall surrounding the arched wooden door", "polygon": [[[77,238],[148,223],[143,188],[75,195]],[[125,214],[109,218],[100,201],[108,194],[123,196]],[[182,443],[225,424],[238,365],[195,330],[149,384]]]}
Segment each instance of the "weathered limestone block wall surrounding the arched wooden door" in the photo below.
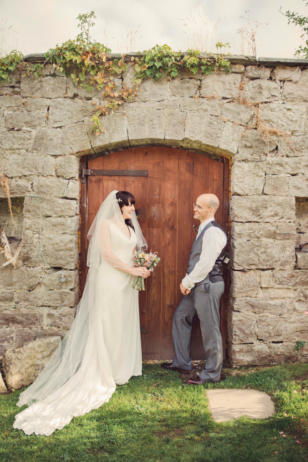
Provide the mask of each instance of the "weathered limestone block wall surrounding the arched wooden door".
{"label": "weathered limestone block wall surrounding the arched wooden door", "polygon": [[[232,72],[144,81],[138,100],[102,118],[101,95],[48,65],[0,88],[0,167],[9,178],[12,226],[0,189],[0,223],[18,267],[0,269],[0,348],[63,336],[78,302],[79,157],[162,145],[231,158],[230,358],[236,365],[308,359],[308,62],[231,59]],[[306,67],[305,67],[306,65]],[[132,65],[116,79],[130,85]],[[40,204],[35,198],[40,196]],[[68,293],[65,307],[52,320]],[[4,260],[0,256],[0,264]],[[51,325],[50,325],[51,321]]]}

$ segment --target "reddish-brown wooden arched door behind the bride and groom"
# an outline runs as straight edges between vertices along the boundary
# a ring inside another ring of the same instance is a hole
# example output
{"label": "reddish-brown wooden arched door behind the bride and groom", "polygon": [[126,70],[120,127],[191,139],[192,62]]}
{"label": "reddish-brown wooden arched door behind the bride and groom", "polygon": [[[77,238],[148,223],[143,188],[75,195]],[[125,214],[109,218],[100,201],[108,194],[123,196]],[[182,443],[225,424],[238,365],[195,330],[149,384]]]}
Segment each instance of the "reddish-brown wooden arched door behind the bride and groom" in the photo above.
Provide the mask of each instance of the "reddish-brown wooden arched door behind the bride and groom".
{"label": "reddish-brown wooden arched door behind the bride and groom", "polygon": [[[83,175],[82,168],[86,169]],[[125,176],[119,176],[123,175],[123,170],[133,171],[131,175],[126,172]],[[86,274],[86,233],[100,204],[113,189],[127,190],[135,196],[139,223],[149,250],[161,257],[154,274],[146,281],[146,291],[139,295],[143,358],[172,359],[172,315],[182,297],[179,284],[186,274],[190,249],[199,226],[199,222],[193,219],[193,202],[202,193],[216,194],[221,206],[215,218],[228,231],[229,159],[216,160],[162,147],[133,148],[96,158],[82,158],[81,288]],[[225,296],[221,307],[225,346],[226,305]],[[204,359],[197,318],[193,323],[191,357]]]}

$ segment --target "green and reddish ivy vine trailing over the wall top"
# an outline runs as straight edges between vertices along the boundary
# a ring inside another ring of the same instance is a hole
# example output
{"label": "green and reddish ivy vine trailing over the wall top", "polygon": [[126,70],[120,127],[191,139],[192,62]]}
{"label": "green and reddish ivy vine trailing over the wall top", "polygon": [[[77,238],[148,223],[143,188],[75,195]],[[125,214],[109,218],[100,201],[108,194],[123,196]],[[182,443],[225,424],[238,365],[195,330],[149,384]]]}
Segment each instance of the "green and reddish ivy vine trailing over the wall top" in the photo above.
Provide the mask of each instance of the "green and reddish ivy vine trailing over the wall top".
{"label": "green and reddish ivy vine trailing over the wall top", "polygon": [[[65,76],[72,77],[74,84],[81,89],[91,91],[92,87],[101,91],[102,101],[94,102],[96,107],[89,110],[92,113],[92,131],[99,135],[103,129],[99,117],[113,112],[124,101],[131,101],[138,94],[138,86],[145,78],[154,81],[163,77],[174,78],[179,71],[188,71],[195,75],[198,70],[205,74],[218,69],[231,72],[230,62],[225,58],[223,48],[229,43],[217,43],[219,53],[213,55],[201,54],[198,50],[187,50],[185,53],[175,52],[168,45],[145,50],[136,58],[131,57],[135,75],[131,88],[123,83],[116,86],[114,78],[121,76],[127,70],[127,62],[123,54],[121,59],[112,59],[108,53],[110,48],[96,42],[90,36],[90,28],[95,24],[94,11],[79,14],[78,28],[80,32],[76,39],[68,40],[56,48],[48,50],[44,63],[28,63],[24,61],[22,53],[13,50],[9,55],[0,59],[0,82],[11,82],[11,75],[19,69],[27,75],[42,76],[47,63],[54,64],[58,71]],[[224,50],[224,51],[225,51]]]}

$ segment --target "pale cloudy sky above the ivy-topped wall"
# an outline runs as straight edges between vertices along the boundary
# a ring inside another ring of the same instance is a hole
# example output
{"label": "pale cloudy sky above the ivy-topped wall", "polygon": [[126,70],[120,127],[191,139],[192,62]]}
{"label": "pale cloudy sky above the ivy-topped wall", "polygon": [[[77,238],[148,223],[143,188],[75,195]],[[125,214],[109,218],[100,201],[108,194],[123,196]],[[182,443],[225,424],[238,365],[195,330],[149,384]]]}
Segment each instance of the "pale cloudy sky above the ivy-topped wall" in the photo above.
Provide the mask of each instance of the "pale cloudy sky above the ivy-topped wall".
{"label": "pale cloudy sky above the ivy-topped wall", "polygon": [[[293,58],[301,41],[299,26],[288,25],[280,12],[308,16],[307,0],[0,0],[0,48],[24,55],[45,53],[76,37],[77,14],[94,10],[92,37],[112,52],[143,51],[167,44],[173,50],[215,51],[217,41],[231,44],[232,54],[249,53],[237,30],[250,19],[260,23],[257,57]],[[186,25],[185,25],[186,24]],[[11,26],[11,27],[10,27]],[[10,29],[8,30],[8,27]]]}

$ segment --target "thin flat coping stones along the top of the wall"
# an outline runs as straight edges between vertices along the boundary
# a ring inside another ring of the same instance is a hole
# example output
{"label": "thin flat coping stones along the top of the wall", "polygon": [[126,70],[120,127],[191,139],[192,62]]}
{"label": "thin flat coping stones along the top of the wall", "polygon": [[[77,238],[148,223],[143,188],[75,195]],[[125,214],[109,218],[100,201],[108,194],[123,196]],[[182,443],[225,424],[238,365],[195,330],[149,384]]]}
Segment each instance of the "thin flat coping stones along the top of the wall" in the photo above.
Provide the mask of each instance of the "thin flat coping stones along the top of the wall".
{"label": "thin flat coping stones along the top of the wall", "polygon": [[[131,52],[126,53],[126,57],[135,58],[139,56],[143,56],[145,53],[143,52]],[[183,53],[184,55],[184,53]],[[108,53],[112,59],[121,59],[123,54],[122,53]],[[206,53],[200,53],[200,56],[208,56]],[[215,56],[215,54],[214,54]],[[246,66],[265,66],[265,67],[272,67],[272,66],[301,66],[301,67],[308,67],[308,59],[301,59],[301,58],[256,58],[255,56],[247,56],[247,55],[224,55],[226,59],[230,61],[231,64],[243,64]],[[32,53],[26,55],[24,57],[24,61],[45,61],[44,53]]]}

